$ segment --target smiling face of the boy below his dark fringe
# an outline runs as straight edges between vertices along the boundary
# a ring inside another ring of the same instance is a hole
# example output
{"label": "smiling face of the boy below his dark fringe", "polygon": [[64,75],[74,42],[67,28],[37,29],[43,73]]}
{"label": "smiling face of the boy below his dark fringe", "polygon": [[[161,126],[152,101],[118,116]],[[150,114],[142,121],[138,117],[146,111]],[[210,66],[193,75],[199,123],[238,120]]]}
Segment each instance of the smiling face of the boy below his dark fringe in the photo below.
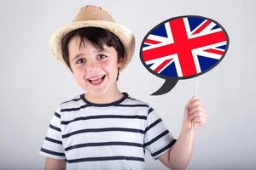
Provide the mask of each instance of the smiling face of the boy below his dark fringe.
{"label": "smiling face of the boy below his dark fringe", "polygon": [[116,94],[118,67],[122,65],[116,50],[107,45],[98,49],[87,40],[79,48],[80,42],[79,36],[68,42],[70,66],[80,87],[95,97]]}

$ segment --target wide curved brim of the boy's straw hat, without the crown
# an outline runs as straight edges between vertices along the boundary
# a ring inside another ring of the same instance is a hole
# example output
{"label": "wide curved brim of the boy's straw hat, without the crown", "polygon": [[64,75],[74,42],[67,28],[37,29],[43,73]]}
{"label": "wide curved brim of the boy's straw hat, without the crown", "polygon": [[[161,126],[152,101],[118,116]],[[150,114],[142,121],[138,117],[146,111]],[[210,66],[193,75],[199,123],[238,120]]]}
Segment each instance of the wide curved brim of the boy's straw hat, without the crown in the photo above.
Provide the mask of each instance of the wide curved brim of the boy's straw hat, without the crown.
{"label": "wide curved brim of the boy's straw hat, without the crown", "polygon": [[86,21],[75,21],[66,26],[61,26],[59,29],[55,30],[53,34],[49,37],[49,46],[55,54],[55,58],[60,60],[61,63],[65,64],[62,57],[61,41],[69,32],[77,30],[83,27],[99,27],[107,29],[113,32],[114,35],[119,37],[119,40],[123,43],[125,48],[125,56],[123,60],[123,66],[120,71],[124,70],[125,67],[131,61],[132,55],[135,48],[135,38],[133,33],[125,26],[119,25],[118,23],[105,21],[105,20],[86,20]]}

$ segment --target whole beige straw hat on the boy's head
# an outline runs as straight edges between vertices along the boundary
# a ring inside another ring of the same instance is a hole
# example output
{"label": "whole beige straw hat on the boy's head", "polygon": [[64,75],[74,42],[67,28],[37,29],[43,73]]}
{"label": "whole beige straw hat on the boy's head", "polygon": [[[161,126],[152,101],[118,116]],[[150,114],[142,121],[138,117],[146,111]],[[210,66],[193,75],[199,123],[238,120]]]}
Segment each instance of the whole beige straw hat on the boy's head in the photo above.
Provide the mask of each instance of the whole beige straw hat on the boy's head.
{"label": "whole beige straw hat on the boy's head", "polygon": [[65,64],[61,51],[62,38],[71,31],[90,26],[107,29],[119,37],[125,48],[124,65],[120,68],[120,71],[122,71],[125,66],[129,64],[134,53],[134,35],[128,28],[116,23],[107,11],[91,5],[81,8],[79,14],[76,15],[72,23],[67,24],[66,26],[61,26],[53,32],[49,38],[49,46],[52,49],[53,54],[55,54],[55,58]]}

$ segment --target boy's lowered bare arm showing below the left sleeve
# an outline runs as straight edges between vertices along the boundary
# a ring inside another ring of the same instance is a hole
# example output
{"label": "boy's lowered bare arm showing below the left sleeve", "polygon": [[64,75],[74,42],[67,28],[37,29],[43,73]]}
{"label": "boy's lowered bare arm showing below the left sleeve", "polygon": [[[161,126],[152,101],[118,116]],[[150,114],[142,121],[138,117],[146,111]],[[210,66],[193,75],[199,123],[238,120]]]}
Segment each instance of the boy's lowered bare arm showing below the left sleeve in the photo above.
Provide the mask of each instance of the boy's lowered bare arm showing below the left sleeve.
{"label": "boy's lowered bare arm showing below the left sleeve", "polygon": [[66,161],[46,157],[44,170],[66,170]]}

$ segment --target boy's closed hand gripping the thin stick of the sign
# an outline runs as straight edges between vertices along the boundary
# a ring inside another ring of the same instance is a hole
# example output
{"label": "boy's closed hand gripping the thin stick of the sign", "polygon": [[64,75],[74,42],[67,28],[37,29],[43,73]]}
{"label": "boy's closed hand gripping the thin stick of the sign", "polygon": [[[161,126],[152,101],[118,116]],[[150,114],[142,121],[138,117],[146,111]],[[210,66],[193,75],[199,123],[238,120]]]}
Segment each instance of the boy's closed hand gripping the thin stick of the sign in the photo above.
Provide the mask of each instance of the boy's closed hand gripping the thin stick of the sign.
{"label": "boy's closed hand gripping the thin stick of the sign", "polygon": [[184,109],[183,117],[183,130],[191,129],[191,122],[193,122],[193,127],[198,128],[207,122],[206,110],[199,99],[195,99],[193,96]]}

